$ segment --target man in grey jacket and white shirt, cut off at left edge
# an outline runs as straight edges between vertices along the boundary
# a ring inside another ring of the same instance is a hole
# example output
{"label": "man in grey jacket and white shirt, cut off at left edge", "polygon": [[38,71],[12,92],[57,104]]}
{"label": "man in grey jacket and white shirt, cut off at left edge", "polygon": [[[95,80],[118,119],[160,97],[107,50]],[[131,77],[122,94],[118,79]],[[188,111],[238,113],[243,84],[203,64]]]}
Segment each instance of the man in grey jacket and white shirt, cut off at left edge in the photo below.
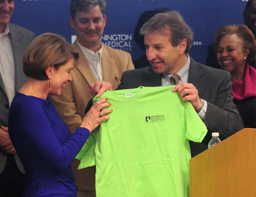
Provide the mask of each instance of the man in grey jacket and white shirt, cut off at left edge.
{"label": "man in grey jacket and white shirt, cut off at left edge", "polygon": [[8,114],[16,91],[26,82],[22,56],[35,34],[9,23],[14,2],[0,0],[0,194],[23,196],[24,168],[8,134]]}

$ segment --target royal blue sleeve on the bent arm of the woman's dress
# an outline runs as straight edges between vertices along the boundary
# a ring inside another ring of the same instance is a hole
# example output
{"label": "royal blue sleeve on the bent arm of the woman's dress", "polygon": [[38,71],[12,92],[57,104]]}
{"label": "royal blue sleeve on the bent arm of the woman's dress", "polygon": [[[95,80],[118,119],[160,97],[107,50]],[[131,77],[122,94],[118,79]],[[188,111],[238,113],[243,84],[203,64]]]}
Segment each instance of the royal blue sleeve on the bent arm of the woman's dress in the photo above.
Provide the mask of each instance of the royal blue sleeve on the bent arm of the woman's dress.
{"label": "royal blue sleeve on the bent arm of the woman's dress", "polygon": [[90,134],[86,128],[79,127],[61,145],[44,107],[33,98],[23,102],[19,116],[21,132],[28,138],[37,154],[58,171],[63,171],[70,165]]}

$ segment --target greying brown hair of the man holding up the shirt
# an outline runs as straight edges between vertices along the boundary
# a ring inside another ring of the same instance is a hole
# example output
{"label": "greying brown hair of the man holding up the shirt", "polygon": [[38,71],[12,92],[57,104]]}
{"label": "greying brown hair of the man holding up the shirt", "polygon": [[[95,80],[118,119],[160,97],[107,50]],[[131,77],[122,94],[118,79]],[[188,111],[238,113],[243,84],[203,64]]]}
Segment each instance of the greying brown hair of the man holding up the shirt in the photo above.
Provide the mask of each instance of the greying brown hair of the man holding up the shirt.
{"label": "greying brown hair of the man holding up the shirt", "polygon": [[174,10],[156,14],[149,19],[140,30],[141,35],[150,34],[152,32],[170,35],[172,46],[178,46],[183,39],[186,39],[186,54],[188,54],[193,45],[194,33],[191,27],[186,24],[180,13]]}

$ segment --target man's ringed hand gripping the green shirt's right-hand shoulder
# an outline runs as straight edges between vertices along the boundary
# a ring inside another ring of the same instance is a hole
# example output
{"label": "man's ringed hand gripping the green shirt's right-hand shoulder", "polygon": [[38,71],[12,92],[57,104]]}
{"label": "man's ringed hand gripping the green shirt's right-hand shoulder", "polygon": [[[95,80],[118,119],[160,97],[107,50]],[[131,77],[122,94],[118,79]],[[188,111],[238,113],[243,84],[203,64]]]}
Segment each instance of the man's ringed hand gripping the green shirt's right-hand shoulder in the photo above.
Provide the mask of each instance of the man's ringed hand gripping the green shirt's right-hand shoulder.
{"label": "man's ringed hand gripping the green shirt's right-hand shoulder", "polygon": [[172,91],[178,91],[182,101],[190,101],[195,110],[201,107],[202,103],[198,96],[198,90],[192,83],[180,83],[176,85]]}

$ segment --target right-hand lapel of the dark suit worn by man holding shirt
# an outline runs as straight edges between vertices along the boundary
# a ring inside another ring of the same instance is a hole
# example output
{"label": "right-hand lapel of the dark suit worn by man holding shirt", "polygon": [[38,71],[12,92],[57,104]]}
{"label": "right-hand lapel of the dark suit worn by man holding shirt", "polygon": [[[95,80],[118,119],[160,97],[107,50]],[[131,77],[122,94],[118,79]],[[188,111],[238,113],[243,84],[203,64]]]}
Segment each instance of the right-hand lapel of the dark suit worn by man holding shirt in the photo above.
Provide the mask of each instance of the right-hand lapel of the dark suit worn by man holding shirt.
{"label": "right-hand lapel of the dark suit worn by man holding shirt", "polygon": [[203,70],[198,66],[198,63],[190,57],[190,69],[188,73],[188,83],[192,83],[198,89],[199,97],[202,96],[204,86],[206,84],[206,77]]}

